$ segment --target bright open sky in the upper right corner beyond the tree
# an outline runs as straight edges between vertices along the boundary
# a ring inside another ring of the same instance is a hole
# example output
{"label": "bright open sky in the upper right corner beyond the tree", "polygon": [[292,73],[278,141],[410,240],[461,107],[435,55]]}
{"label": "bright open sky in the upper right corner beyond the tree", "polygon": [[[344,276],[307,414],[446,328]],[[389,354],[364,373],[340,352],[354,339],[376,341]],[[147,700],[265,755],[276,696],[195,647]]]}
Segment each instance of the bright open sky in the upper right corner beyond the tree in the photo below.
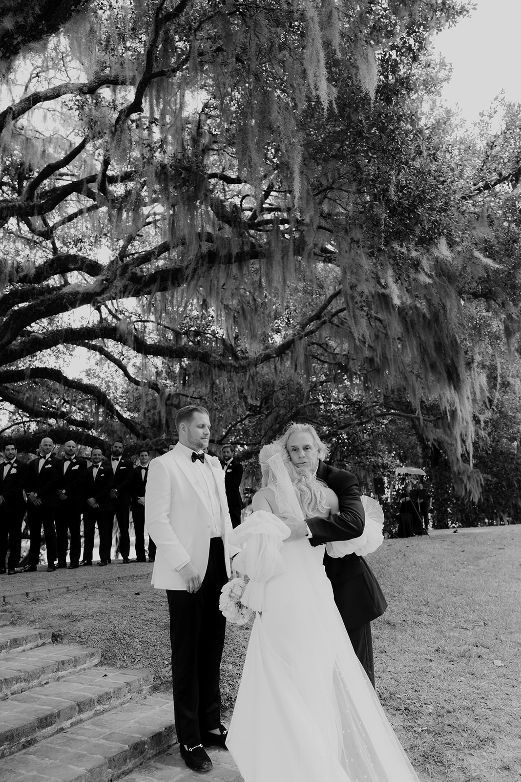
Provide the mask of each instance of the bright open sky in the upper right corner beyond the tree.
{"label": "bright open sky in the upper right corner beyond the tree", "polygon": [[434,47],[452,63],[444,88],[449,106],[459,104],[469,122],[477,120],[501,90],[521,102],[521,0],[473,0],[476,10],[434,39]]}

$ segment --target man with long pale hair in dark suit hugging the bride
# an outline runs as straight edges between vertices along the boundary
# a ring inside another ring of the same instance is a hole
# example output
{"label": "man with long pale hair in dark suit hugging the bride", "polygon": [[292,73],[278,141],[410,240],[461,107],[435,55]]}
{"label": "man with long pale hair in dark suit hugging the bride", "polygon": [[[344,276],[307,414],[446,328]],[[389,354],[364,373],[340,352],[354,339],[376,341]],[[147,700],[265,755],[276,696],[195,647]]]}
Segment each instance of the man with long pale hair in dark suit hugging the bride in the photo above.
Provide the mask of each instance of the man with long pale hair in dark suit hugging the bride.
{"label": "man with long pale hair in dark suit hugging the bride", "polygon": [[[277,440],[284,446],[298,471],[311,473],[338,497],[339,511],[324,518],[312,516],[305,523],[287,521],[291,536],[306,536],[312,546],[333,540],[352,540],[362,535],[365,514],[360,501],[359,482],[352,472],[327,465],[327,446],[310,424],[290,424]],[[333,587],[334,601],[348,631],[356,656],[374,686],[373,619],[381,616],[387,601],[373,571],[358,554],[334,558],[324,554],[324,568]]]}

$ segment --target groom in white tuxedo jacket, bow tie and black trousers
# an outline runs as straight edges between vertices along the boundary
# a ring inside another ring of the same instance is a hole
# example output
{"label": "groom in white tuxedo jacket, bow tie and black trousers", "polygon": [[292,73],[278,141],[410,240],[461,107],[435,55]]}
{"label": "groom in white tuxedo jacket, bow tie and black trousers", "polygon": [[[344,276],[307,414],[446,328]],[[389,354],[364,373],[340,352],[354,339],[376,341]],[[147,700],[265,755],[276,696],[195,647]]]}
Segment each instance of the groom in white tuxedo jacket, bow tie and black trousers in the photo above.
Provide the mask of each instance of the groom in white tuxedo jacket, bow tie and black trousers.
{"label": "groom in white tuxedo jacket, bow tie and black trousers", "polygon": [[157,551],[152,585],[165,589],[170,610],[173,709],[186,765],[207,771],[204,747],[225,746],[220,723],[219,668],[226,619],[219,595],[230,577],[232,531],[224,472],[205,454],[210,421],[205,407],[177,413],[179,443],[148,468],[145,525]]}

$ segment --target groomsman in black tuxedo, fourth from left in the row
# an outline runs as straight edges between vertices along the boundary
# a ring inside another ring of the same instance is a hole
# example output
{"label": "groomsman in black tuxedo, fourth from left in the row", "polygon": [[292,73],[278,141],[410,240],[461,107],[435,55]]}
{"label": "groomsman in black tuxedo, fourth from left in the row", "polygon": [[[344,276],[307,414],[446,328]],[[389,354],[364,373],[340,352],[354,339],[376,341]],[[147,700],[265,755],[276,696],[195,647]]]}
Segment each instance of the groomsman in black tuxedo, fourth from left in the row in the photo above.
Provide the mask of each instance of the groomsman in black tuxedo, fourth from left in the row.
{"label": "groomsman in black tuxedo, fourth from left in the row", "polygon": [[99,566],[110,564],[112,521],[114,506],[109,497],[114,474],[110,465],[103,464],[103,451],[91,450],[91,466],[87,467],[84,486],[84,555],[80,565],[92,565],[95,527],[98,525]]}

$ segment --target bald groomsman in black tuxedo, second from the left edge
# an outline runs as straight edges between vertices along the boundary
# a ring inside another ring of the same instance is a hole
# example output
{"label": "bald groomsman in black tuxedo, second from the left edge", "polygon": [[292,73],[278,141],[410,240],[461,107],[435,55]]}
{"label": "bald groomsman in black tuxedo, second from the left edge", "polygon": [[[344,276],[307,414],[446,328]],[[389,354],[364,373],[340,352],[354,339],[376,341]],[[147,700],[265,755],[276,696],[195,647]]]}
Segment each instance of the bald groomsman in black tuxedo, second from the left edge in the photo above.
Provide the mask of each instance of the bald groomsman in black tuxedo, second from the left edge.
{"label": "bald groomsman in black tuxedo, second from the left edge", "polygon": [[58,481],[62,472],[62,461],[52,455],[54,443],[44,437],[40,443],[40,455],[27,465],[25,493],[27,494],[27,522],[29,524],[30,547],[28,564],[24,572],[37,569],[40,561],[41,528],[44,528],[47,548],[47,570],[55,570],[56,532],[54,526],[55,508],[58,504]]}

